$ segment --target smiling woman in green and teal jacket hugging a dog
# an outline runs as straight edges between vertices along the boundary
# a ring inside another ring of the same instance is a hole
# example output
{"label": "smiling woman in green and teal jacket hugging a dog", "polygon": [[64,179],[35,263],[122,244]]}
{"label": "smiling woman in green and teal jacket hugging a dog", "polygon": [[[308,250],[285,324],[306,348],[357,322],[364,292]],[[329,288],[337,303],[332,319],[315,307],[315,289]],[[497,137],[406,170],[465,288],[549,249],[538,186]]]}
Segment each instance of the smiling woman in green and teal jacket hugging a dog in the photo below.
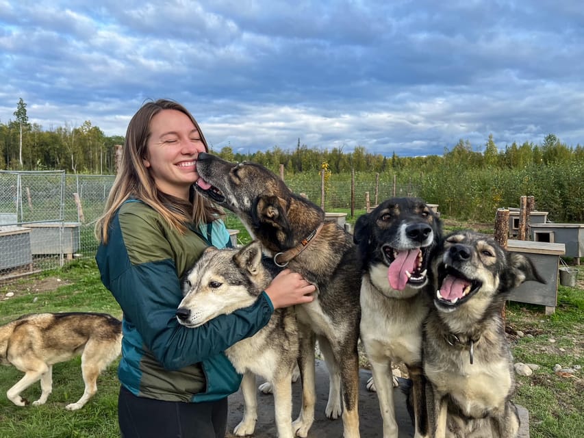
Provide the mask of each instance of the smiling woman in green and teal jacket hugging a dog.
{"label": "smiling woman in green and teal jacket hugging a dog", "polygon": [[123,310],[118,422],[122,436],[221,437],[241,376],[224,351],[274,309],[312,301],[314,285],[284,270],[251,307],[188,329],[175,318],[180,278],[209,245],[229,244],[222,211],[193,189],[207,142],[174,101],[130,120],[116,181],[96,225],[101,279]]}

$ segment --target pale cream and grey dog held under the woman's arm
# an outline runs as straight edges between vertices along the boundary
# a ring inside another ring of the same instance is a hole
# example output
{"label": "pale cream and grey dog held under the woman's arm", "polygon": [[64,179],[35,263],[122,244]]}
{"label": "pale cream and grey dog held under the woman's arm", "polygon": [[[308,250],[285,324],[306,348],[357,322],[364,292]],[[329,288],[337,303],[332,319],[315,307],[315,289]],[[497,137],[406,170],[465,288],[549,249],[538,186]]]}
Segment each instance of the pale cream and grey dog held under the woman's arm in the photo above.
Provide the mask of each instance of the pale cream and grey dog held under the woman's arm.
{"label": "pale cream and grey dog held under the woman's arm", "polygon": [[[186,279],[188,290],[177,310],[177,319],[188,327],[205,324],[222,313],[253,304],[268,287],[279,268],[262,257],[262,246],[254,241],[240,249],[210,247]],[[294,308],[277,309],[270,322],[252,337],[225,351],[240,374],[245,402],[243,420],[233,433],[252,435],[257,421],[255,374],[266,378],[274,389],[275,419],[280,438],[292,438],[292,373],[299,353]]]}

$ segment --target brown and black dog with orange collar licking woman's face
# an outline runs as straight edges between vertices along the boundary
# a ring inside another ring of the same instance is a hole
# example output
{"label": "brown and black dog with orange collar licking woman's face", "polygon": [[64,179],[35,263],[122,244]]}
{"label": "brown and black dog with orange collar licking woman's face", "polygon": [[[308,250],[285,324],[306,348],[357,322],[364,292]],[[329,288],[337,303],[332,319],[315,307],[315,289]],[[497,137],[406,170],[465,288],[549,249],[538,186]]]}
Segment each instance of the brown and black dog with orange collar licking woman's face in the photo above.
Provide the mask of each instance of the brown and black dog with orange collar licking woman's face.
{"label": "brown and black dog with orange collar licking woman's face", "polygon": [[306,437],[314,421],[317,337],[331,376],[325,413],[336,418],[342,411],[344,437],[359,437],[361,270],[353,237],[335,221],[325,221],[320,207],[292,193],[264,166],[201,153],[196,170],[201,177],[196,188],[202,194],[237,214],[277,265],[288,266],[316,286],[314,301],[296,306],[303,387],[303,406],[294,421],[296,435]]}

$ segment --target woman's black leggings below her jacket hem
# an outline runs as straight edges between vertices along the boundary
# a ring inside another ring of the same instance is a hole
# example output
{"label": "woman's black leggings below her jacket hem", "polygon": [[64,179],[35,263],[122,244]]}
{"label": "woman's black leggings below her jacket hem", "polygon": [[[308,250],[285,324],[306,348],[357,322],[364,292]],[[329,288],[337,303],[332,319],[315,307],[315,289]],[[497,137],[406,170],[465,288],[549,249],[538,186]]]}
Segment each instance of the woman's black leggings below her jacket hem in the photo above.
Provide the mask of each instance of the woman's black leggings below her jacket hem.
{"label": "woman's black leggings below her jacket hem", "polygon": [[216,402],[165,402],[137,397],[125,387],[118,396],[122,438],[224,438],[227,398]]}

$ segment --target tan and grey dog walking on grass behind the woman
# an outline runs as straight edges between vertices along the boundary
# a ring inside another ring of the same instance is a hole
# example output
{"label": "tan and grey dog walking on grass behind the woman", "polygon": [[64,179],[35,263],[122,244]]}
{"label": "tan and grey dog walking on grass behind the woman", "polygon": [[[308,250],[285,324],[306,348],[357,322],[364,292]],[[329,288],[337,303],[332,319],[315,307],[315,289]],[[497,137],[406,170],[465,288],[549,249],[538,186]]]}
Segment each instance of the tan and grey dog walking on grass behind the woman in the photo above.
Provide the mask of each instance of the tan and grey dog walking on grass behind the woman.
{"label": "tan and grey dog walking on grass behind the woman", "polygon": [[0,363],[25,373],[6,396],[17,406],[28,401],[21,392],[40,380],[45,404],[53,390],[53,364],[81,355],[83,396],[66,409],[76,411],[97,392],[97,377],[120,355],[122,323],[105,313],[32,313],[0,326]]}

